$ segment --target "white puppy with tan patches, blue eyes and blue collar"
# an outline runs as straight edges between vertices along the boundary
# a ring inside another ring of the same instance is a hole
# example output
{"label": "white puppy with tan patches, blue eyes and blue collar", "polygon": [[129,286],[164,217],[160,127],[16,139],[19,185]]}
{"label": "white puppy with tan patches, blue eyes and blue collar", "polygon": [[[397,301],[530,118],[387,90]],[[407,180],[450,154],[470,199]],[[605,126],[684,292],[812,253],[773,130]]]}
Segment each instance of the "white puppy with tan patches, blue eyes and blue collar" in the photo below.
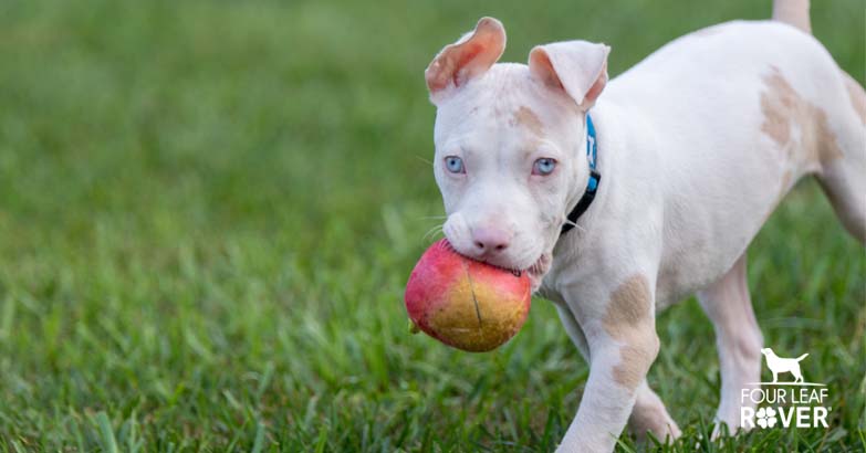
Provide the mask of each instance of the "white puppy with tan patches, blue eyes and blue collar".
{"label": "white puppy with tan patches, blue eyes and blue collar", "polygon": [[482,18],[425,72],[446,239],[525,271],[591,367],[560,451],[612,451],[626,424],[680,434],[646,375],[656,313],[695,293],[717,421],[739,424],[763,343],[747,249],[801,177],[866,240],[866,93],[812,36],[807,0],[773,19],[687,34],[608,81],[611,48],[586,41],[498,63],[504,28]]}

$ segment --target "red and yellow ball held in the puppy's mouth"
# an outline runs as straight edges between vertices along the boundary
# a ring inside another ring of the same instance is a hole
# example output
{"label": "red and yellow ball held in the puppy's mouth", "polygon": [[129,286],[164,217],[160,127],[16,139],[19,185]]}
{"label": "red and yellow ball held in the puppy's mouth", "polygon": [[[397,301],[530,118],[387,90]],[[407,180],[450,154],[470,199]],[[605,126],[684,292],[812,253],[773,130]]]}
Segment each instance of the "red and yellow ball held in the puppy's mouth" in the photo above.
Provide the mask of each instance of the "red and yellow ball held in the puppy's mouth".
{"label": "red and yellow ball held in the puppy's mouth", "polygon": [[409,318],[427,335],[458,349],[484,352],[520,330],[532,292],[525,272],[462,256],[444,239],[418,260],[405,302]]}

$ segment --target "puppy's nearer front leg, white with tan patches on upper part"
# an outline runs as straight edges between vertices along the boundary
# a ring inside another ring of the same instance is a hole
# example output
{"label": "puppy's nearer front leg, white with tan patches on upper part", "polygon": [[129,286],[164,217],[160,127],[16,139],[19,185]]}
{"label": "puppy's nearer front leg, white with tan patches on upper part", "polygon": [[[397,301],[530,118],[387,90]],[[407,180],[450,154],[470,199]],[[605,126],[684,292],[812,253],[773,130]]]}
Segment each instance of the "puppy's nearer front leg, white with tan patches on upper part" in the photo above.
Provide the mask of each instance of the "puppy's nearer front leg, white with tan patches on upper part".
{"label": "puppy's nearer front leg, white with tan patches on upper part", "polygon": [[609,452],[628,421],[638,387],[659,348],[655,287],[646,274],[614,286],[603,304],[572,303],[586,335],[589,379],[560,452]]}

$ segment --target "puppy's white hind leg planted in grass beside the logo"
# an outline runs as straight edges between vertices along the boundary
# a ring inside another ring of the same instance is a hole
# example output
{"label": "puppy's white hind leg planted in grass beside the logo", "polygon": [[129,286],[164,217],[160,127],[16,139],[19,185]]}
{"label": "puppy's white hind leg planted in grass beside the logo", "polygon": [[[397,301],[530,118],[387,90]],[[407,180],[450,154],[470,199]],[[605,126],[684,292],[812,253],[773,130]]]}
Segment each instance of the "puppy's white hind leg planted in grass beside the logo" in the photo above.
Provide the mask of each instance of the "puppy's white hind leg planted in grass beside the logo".
{"label": "puppy's white hind leg planted in grass beside the logo", "polygon": [[[742,401],[743,389],[757,389],[761,380],[763,337],[752,310],[745,278],[745,253],[719,281],[698,292],[698,301],[716,329],[721,370],[721,400],[717,422],[727,423],[733,432],[740,426],[741,407],[754,408],[751,399]],[[719,434],[716,426],[713,435]]]}

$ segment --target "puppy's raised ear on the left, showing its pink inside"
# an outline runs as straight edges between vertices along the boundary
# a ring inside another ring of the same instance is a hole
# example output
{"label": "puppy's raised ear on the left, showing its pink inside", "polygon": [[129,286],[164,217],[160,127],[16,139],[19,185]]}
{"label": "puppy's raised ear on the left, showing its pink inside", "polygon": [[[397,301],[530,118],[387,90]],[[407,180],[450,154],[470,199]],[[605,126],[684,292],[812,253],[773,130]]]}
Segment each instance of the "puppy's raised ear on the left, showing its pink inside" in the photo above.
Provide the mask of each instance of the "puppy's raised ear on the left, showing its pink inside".
{"label": "puppy's raised ear on the left, showing its pink inside", "polygon": [[476,29],[446,45],[427,71],[427,88],[436,104],[446,92],[487,72],[505,50],[505,29],[493,18],[481,18]]}

